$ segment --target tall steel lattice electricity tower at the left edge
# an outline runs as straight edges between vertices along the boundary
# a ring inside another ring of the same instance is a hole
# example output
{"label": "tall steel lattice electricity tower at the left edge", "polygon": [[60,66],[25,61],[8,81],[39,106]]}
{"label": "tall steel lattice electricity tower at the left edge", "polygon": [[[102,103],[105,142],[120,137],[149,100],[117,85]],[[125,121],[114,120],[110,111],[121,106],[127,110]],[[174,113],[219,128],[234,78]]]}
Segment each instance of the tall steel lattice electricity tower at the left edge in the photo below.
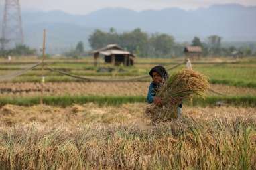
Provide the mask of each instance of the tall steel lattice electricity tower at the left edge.
{"label": "tall steel lattice electricity tower at the left edge", "polygon": [[1,48],[7,50],[15,48],[16,44],[23,43],[24,36],[19,0],[5,0]]}

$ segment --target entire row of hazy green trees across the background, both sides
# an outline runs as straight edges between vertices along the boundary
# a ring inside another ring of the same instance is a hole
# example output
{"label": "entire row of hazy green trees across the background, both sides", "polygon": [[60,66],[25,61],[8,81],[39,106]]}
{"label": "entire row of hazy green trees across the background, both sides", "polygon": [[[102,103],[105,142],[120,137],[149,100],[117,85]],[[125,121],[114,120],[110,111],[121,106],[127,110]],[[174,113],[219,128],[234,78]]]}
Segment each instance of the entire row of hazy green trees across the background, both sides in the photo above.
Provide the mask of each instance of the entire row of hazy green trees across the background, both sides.
{"label": "entire row of hazy green trees across the background, both sides", "polygon": [[[5,41],[5,39],[0,38],[1,47],[3,47]],[[234,52],[237,52],[241,56],[256,56],[256,44],[240,48],[222,46],[222,37],[218,35],[211,35],[204,41],[201,41],[199,37],[194,37],[191,43],[177,43],[172,35],[166,33],[149,34],[141,31],[139,28],[129,32],[117,33],[114,28],[111,28],[109,31],[96,29],[90,35],[88,41],[93,50],[103,48],[108,44],[118,44],[136,56],[146,58],[184,56],[184,48],[186,46],[200,46],[203,56],[231,56]],[[83,42],[79,41],[76,48],[65,52],[64,56],[72,58],[87,56],[88,52],[84,49]],[[27,56],[35,55],[36,53],[37,51],[35,49],[29,48],[29,46],[24,44],[18,44],[15,48],[9,50],[0,48],[0,56]]]}

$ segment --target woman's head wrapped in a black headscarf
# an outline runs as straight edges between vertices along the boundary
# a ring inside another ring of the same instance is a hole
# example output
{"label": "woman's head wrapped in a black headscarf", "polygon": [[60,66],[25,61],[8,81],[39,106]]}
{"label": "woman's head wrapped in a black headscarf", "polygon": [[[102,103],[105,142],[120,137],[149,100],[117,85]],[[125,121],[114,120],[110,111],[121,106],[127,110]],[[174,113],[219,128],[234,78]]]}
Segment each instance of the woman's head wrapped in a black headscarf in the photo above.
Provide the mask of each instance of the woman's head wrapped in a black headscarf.
{"label": "woman's head wrapped in a black headscarf", "polygon": [[155,82],[156,84],[160,84],[162,80],[168,79],[168,73],[163,66],[153,67],[150,70],[149,75],[153,78],[153,82]]}

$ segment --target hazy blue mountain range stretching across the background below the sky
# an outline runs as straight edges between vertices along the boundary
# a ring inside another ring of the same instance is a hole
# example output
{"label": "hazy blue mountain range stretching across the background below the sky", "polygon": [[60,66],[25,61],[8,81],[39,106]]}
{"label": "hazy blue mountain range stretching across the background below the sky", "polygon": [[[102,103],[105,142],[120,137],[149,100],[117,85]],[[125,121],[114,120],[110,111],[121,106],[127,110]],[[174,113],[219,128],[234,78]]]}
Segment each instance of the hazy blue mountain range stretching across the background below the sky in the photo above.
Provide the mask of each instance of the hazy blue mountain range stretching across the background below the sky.
{"label": "hazy blue mountain range stretching across the background below the sky", "polygon": [[[0,15],[3,13],[0,9]],[[202,40],[220,35],[223,41],[256,41],[256,7],[237,4],[213,5],[193,11],[168,8],[159,11],[132,11],[106,8],[88,15],[71,15],[63,11],[22,11],[25,41],[38,48],[42,44],[42,30],[48,31],[48,45],[52,49],[67,49],[80,40],[88,48],[88,36],[94,29],[131,31],[137,27],[148,33],[168,33],[176,41]],[[1,17],[0,17],[1,19]]]}

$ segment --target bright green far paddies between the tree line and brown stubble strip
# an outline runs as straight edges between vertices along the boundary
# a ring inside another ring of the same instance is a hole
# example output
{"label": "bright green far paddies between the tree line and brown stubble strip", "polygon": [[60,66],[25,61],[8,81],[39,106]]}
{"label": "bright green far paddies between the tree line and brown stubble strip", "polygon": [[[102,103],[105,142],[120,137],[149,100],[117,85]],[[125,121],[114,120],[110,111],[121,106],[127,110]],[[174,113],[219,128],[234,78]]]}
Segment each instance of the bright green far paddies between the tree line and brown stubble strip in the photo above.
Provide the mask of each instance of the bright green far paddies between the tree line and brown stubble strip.
{"label": "bright green far paddies between the tree line and brown stubble strip", "polygon": [[[65,63],[66,61],[66,63]],[[153,63],[147,64],[135,64],[132,67],[124,67],[125,72],[117,72],[119,70],[119,66],[110,66],[108,64],[101,64],[98,67],[94,67],[92,64],[81,64],[80,62],[88,62],[89,60],[51,60],[51,63],[48,65],[51,68],[64,70],[71,74],[77,74],[80,76],[103,76],[103,77],[120,77],[123,78],[125,76],[141,76],[144,74],[148,74],[149,70],[157,64],[157,62],[164,62],[163,64],[168,64],[168,62],[172,61],[172,59],[150,59]],[[141,62],[148,62],[147,60],[139,59]],[[149,61],[149,62],[150,62]],[[176,61],[176,60],[174,60]],[[225,60],[224,60],[225,61]],[[178,61],[181,62],[181,61]],[[209,61],[211,62],[211,61]],[[12,72],[15,70],[20,70],[21,65],[19,63],[10,63],[11,65],[4,64],[0,66],[1,74],[7,74],[8,72]],[[96,72],[97,68],[111,67],[115,68],[115,71],[112,73],[109,72]],[[168,64],[168,66],[170,66]],[[166,67],[168,67],[166,66]],[[172,66],[174,66],[172,64]],[[184,65],[185,66],[185,65]],[[169,74],[181,70],[184,66],[180,66],[175,70],[170,70]],[[210,82],[212,84],[227,84],[231,86],[242,86],[242,87],[252,87],[256,88],[256,67],[255,60],[245,60],[241,62],[236,62],[233,64],[229,64],[227,62],[221,64],[206,64],[206,63],[193,63],[192,66],[194,70],[198,70],[205,74],[210,78]],[[8,71],[9,70],[9,71]],[[47,82],[81,82],[82,80],[77,80],[74,78],[68,78],[66,76],[60,76],[59,74],[52,72],[46,73],[46,81]],[[40,78],[38,76],[41,75],[41,68],[36,68],[36,70],[32,70],[24,74],[23,76],[19,76],[14,78],[12,82],[40,82]],[[150,78],[141,80],[141,81],[149,81]]]}

